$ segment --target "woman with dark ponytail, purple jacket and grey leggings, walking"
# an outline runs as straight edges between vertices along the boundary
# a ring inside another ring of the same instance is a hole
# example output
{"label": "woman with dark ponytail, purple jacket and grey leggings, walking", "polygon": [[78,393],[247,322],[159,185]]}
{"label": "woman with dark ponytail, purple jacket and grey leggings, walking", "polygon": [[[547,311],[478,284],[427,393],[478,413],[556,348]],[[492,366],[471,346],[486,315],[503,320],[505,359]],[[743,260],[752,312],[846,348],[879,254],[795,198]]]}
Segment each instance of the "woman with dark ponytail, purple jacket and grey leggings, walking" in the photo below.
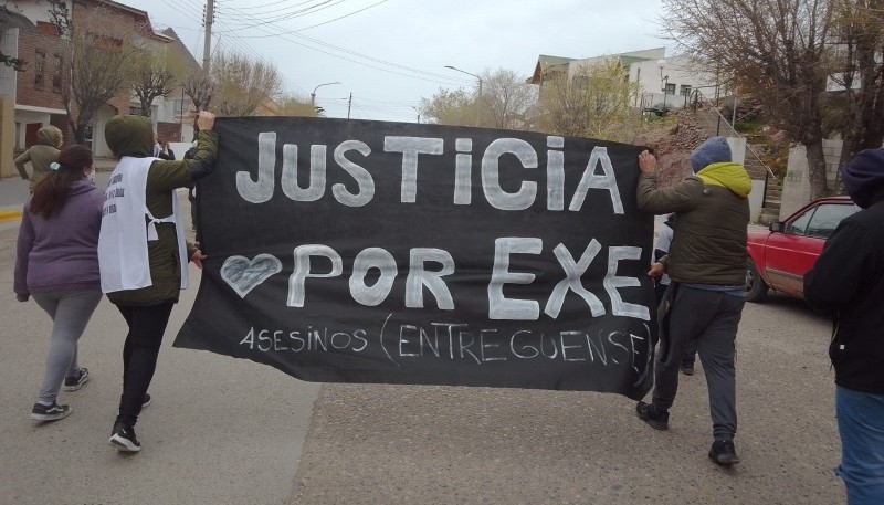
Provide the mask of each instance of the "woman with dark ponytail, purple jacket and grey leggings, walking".
{"label": "woman with dark ponytail, purple jacket and grey leggings, walking", "polygon": [[59,404],[66,391],[90,378],[77,361],[77,340],[102,299],[98,232],[104,193],[92,180],[92,151],[69,146],[24,203],[19,228],[14,291],[19,302],[33,297],[52,318],[43,385],[31,419],[55,421],[73,410]]}

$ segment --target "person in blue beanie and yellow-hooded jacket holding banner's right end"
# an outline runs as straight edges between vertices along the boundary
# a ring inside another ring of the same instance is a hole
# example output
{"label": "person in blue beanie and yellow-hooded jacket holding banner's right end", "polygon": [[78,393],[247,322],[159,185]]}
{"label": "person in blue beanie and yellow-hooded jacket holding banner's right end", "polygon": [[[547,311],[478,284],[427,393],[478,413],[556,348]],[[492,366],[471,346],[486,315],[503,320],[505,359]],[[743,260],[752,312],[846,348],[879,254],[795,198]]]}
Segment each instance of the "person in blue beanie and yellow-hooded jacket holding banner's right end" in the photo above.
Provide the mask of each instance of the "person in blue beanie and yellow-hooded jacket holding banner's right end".
{"label": "person in blue beanie and yellow-hooded jacket holding banner's right end", "polygon": [[706,375],[714,442],[709,457],[717,464],[739,463],[735,339],[745,304],[746,227],[751,180],[732,161],[724,137],[711,137],[691,152],[694,176],[659,188],[657,162],[639,155],[639,209],[675,212],[678,232],[669,253],[649,275],[672,280],[659,308],[660,354],[651,403],[640,401],[639,417],[657,430],[669,428],[669,409],[678,389],[678,369],[688,343],[696,340]]}

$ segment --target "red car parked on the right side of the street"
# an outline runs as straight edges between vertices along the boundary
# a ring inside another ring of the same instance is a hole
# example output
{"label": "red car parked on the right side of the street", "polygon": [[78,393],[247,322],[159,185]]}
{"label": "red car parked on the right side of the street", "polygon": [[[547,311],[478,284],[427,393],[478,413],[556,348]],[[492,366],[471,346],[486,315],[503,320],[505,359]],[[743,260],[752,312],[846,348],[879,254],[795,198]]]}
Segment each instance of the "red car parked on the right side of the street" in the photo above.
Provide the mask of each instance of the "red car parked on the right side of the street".
{"label": "red car parked on the right side of the street", "polygon": [[813,266],[825,239],[860,208],[849,197],[814,200],[769,231],[749,230],[746,299],[760,302],[768,290],[804,297],[804,274]]}

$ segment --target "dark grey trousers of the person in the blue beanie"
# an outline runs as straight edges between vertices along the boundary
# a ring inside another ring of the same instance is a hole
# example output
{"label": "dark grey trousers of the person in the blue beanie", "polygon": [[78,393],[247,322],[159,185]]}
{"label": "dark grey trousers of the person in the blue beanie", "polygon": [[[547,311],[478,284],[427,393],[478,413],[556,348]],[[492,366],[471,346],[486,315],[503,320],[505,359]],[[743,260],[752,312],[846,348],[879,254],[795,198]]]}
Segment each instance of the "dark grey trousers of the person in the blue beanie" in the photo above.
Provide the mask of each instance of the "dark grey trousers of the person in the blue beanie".
{"label": "dark grey trousers of the person in the blue beanie", "polygon": [[706,375],[715,440],[737,432],[736,367],[739,319],[746,301],[739,296],[672,283],[661,304],[660,355],[654,370],[655,407],[669,409],[678,391],[684,349],[695,340]]}

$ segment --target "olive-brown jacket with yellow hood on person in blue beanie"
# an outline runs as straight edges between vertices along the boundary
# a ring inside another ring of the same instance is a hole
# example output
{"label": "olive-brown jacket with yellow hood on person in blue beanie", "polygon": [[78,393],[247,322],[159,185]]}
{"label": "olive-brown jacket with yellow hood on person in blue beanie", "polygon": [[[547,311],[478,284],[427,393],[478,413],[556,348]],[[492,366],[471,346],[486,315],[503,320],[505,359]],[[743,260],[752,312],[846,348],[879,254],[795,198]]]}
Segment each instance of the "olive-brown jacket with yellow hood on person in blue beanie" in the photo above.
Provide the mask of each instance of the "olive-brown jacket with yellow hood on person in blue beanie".
{"label": "olive-brown jacket with yellow hood on person in blue beanie", "polygon": [[741,165],[713,164],[670,188],[639,177],[639,209],[675,212],[675,234],[663,263],[674,282],[743,285],[751,180]]}

